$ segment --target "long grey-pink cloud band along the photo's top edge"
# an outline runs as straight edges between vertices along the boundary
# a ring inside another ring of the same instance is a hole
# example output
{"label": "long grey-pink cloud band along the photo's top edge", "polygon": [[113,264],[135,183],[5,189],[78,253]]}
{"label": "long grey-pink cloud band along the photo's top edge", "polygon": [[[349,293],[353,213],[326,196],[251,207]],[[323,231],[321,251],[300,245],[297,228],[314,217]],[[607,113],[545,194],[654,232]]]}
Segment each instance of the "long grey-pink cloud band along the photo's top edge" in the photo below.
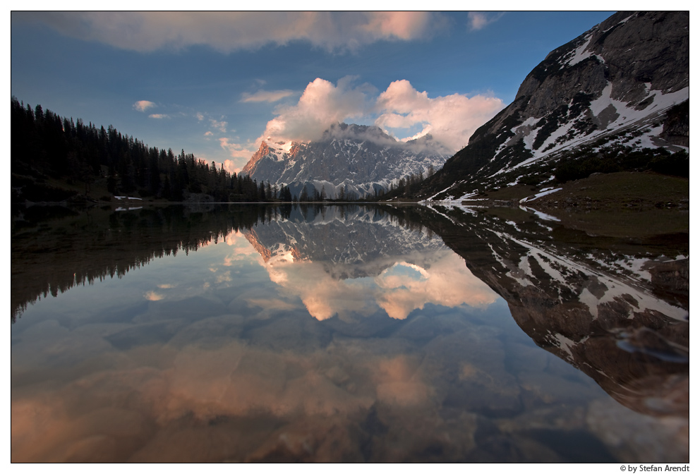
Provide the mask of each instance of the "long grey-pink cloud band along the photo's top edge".
{"label": "long grey-pink cloud band along the photo's top edge", "polygon": [[430,12],[33,12],[64,35],[121,49],[181,50],[207,45],[229,53],[265,44],[309,42],[328,51],[355,51],[373,42],[411,41],[444,30],[447,19]]}

